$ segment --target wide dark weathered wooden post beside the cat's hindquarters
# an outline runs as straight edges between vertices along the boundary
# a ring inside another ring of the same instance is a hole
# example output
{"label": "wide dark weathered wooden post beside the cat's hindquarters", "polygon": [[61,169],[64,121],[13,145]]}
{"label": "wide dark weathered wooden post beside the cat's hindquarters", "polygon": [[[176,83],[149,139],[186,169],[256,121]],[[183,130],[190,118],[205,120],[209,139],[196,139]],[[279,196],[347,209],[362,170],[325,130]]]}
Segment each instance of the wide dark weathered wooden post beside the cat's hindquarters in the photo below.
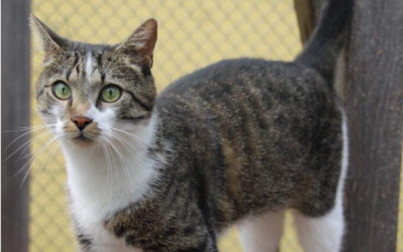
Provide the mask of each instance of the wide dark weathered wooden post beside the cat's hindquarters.
{"label": "wide dark weathered wooden post beside the cat's hindquarters", "polygon": [[403,130],[403,1],[356,0],[347,50],[344,251],[395,252]]}

